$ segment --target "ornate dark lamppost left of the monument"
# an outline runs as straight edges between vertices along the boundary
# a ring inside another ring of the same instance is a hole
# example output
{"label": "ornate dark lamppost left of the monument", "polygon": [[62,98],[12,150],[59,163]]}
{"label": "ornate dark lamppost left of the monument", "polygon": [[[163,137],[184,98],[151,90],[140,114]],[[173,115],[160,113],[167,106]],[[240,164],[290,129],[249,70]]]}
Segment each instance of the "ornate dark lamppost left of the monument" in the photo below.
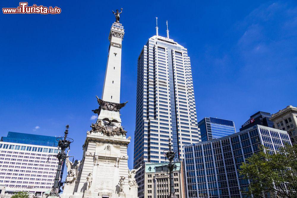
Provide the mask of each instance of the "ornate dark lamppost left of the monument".
{"label": "ornate dark lamppost left of the monument", "polygon": [[66,159],[67,157],[71,157],[71,156],[67,156],[65,153],[65,150],[67,148],[70,148],[70,143],[73,142],[73,139],[70,137],[67,137],[68,134],[68,129],[69,129],[69,124],[66,125],[66,130],[64,132],[64,140],[62,139],[63,137],[57,137],[57,140],[59,140],[58,142],[58,147],[59,149],[61,149],[61,151],[59,151],[59,153],[57,155],[52,155],[55,156],[56,158],[58,158],[59,162],[58,162],[58,168],[57,168],[57,172],[56,172],[56,177],[55,177],[55,181],[54,181],[54,185],[50,191],[50,194],[48,195],[48,197],[59,197],[59,190],[60,190],[60,174],[61,174],[61,167],[62,167],[62,163],[64,161],[64,159]]}

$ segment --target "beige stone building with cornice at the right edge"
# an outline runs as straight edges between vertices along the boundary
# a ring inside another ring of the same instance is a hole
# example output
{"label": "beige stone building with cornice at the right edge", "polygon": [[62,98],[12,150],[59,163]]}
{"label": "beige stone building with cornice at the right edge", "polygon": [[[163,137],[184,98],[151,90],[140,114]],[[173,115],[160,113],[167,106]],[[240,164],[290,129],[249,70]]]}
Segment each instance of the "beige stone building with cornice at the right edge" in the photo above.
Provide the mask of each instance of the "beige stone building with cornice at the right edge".
{"label": "beige stone building with cornice at the right edge", "polygon": [[271,115],[273,128],[287,131],[290,135],[292,144],[297,144],[297,107],[292,105]]}

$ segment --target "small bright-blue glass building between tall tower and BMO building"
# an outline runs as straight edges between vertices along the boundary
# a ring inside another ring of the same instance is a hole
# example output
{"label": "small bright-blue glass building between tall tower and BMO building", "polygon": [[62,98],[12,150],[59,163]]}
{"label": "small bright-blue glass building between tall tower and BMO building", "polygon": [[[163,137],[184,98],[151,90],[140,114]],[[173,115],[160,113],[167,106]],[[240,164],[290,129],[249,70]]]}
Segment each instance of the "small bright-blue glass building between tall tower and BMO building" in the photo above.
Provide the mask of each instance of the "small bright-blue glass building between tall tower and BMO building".
{"label": "small bright-blue glass building between tall tower and BMO building", "polygon": [[234,122],[219,118],[203,118],[198,122],[202,142],[236,133]]}

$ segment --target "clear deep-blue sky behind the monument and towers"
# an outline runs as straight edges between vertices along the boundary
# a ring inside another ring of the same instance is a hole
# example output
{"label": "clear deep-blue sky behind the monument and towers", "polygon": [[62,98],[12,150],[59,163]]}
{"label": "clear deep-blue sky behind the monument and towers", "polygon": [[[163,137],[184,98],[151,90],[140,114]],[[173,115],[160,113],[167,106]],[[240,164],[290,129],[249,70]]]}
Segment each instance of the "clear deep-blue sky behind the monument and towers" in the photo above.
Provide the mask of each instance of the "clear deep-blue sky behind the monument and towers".
{"label": "clear deep-blue sky behind the monument and towers", "polygon": [[[70,3],[71,2],[71,3]],[[137,58],[149,37],[187,47],[198,120],[231,119],[238,130],[257,111],[297,106],[296,1],[29,1],[59,15],[0,13],[0,136],[8,131],[75,139],[81,159],[98,107],[108,54],[111,10],[124,8],[122,125],[135,130]],[[17,7],[19,1],[1,1]],[[37,127],[38,126],[38,127]],[[133,166],[133,142],[128,148]]]}

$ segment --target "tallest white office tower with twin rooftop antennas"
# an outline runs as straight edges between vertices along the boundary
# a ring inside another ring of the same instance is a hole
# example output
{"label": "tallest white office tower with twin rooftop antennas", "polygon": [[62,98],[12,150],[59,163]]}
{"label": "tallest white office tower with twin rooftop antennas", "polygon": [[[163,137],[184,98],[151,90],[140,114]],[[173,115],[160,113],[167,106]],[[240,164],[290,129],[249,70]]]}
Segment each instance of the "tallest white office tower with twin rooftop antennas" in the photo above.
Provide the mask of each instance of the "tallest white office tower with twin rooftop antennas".
{"label": "tallest white office tower with twin rooftop antennas", "polygon": [[[179,159],[183,145],[201,141],[190,58],[167,31],[167,38],[158,34],[149,38],[138,57],[134,168],[146,161],[165,162],[169,137]],[[143,169],[136,175],[140,198]]]}

